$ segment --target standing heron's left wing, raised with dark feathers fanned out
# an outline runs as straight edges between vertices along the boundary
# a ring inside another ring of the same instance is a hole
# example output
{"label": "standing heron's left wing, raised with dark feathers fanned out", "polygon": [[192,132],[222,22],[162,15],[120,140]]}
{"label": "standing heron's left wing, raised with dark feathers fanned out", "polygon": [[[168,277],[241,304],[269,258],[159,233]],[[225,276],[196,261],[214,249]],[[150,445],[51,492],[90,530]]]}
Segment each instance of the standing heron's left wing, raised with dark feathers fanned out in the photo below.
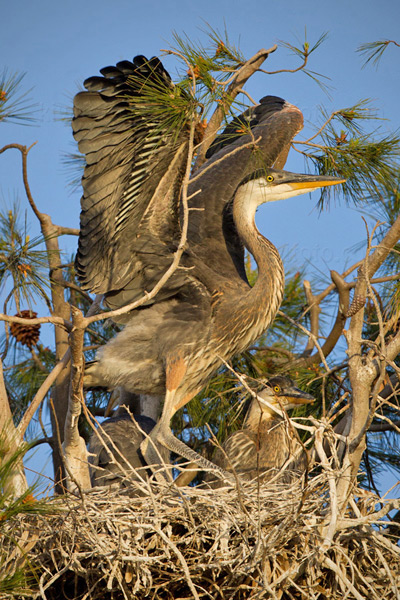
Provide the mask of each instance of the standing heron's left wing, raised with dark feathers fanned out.
{"label": "standing heron's left wing, raised with dark feathers fanned out", "polygon": [[101,73],[74,100],[74,137],[86,158],[76,269],[96,293],[118,295],[134,281],[114,302],[121,305],[171,263],[195,112],[155,57]]}

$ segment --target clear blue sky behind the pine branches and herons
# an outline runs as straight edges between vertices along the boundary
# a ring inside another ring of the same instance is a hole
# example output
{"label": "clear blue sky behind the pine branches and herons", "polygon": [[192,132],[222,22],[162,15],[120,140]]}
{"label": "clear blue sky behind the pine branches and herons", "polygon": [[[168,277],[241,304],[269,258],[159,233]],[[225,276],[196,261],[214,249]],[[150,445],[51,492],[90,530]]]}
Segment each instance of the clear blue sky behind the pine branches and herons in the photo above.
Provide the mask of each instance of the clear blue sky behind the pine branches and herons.
{"label": "clear blue sky behind the pine branches and herons", "polygon": [[[70,127],[57,120],[57,115],[71,105],[82,81],[101,67],[136,54],[160,55],[160,49],[168,48],[172,41],[173,31],[206,44],[202,31],[206,22],[221,31],[226,25],[231,41],[248,57],[279,40],[301,43],[305,28],[310,44],[328,32],[327,40],[311,56],[309,68],[330,78],[329,95],[302,73],[257,74],[247,86],[249,93],[256,99],[267,94],[286,98],[301,108],[306,122],[311,123],[316,122],[320,105],[331,111],[371,98],[379,116],[387,119],[371,123],[371,130],[378,125],[383,132],[398,129],[400,49],[388,48],[378,69],[362,69],[363,60],[356,53],[366,42],[400,41],[398,0],[379,4],[372,0],[3,3],[1,60],[11,72],[26,72],[24,85],[33,88],[31,97],[38,103],[39,120],[31,127],[2,125],[0,145],[37,142],[29,157],[30,184],[39,209],[51,214],[54,222],[71,227],[79,223],[80,191],[69,185],[70,175],[62,162],[63,155],[75,146]],[[285,48],[267,62],[268,70],[299,64]],[[175,59],[167,57],[164,63],[173,75]],[[309,132],[306,126],[299,139]],[[304,170],[302,158],[292,153],[286,168]],[[16,152],[0,157],[0,196],[2,206],[18,197],[25,207]],[[310,271],[312,265],[325,273],[342,271],[355,259],[354,245],[365,238],[361,215],[339,201],[319,214],[317,200],[315,193],[263,207],[258,226],[284,254],[292,251],[298,267],[309,264]],[[31,233],[37,232],[32,219]],[[75,248],[76,239],[65,241],[66,252],[71,254]]]}

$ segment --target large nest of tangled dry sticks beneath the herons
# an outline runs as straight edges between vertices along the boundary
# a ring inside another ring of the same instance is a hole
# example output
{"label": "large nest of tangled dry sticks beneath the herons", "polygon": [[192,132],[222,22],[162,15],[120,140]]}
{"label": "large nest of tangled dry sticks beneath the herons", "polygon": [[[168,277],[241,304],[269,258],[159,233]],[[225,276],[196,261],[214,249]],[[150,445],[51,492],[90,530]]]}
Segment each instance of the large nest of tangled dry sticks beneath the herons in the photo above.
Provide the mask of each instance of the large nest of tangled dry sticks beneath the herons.
{"label": "large nest of tangled dry sticks beneath the herons", "polygon": [[290,486],[147,483],[141,494],[95,488],[55,498],[53,514],[3,524],[3,561],[15,560],[18,539],[35,568],[35,592],[20,597],[400,597],[400,549],[380,520],[389,501],[356,490],[338,518],[324,473]]}

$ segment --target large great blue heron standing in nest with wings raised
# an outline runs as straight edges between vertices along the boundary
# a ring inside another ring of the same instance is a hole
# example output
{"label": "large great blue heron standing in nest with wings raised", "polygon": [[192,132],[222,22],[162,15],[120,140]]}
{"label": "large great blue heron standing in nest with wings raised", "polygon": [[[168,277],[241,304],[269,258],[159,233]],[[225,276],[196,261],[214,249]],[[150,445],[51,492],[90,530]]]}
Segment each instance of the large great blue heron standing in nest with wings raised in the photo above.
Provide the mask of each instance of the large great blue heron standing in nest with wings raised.
{"label": "large great blue heron standing in nest with wings raised", "polygon": [[[74,103],[74,135],[86,157],[76,268],[84,289],[117,308],[142,298],[171,265],[200,117],[157,58],[137,56],[101,73]],[[196,195],[179,268],[155,298],[125,315],[125,328],[86,374],[88,386],[163,395],[151,439],[206,468],[212,464],[173,436],[170,420],[224,360],[265,331],[281,303],[282,262],[255,226],[256,209],[342,181],[272,168],[282,166],[302,123],[298,108],[267,96],[241,116],[248,134],[234,127],[218,138],[189,185],[189,197]],[[254,287],[244,246],[258,266]],[[157,462],[149,440],[142,450],[148,464]]]}

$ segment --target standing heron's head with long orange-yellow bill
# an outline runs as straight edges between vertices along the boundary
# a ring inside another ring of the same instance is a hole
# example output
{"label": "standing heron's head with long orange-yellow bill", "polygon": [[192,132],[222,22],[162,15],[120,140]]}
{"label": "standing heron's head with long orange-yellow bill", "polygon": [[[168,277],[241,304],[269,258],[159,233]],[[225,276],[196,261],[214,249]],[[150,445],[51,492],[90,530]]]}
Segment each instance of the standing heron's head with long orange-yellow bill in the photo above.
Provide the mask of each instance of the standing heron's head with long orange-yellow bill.
{"label": "standing heron's head with long orange-yellow bill", "polygon": [[265,202],[307,194],[318,188],[337,185],[345,181],[345,179],[328,175],[306,175],[278,169],[263,169],[254,172],[242,181],[237,193],[246,198],[246,203],[250,202],[257,207]]}

